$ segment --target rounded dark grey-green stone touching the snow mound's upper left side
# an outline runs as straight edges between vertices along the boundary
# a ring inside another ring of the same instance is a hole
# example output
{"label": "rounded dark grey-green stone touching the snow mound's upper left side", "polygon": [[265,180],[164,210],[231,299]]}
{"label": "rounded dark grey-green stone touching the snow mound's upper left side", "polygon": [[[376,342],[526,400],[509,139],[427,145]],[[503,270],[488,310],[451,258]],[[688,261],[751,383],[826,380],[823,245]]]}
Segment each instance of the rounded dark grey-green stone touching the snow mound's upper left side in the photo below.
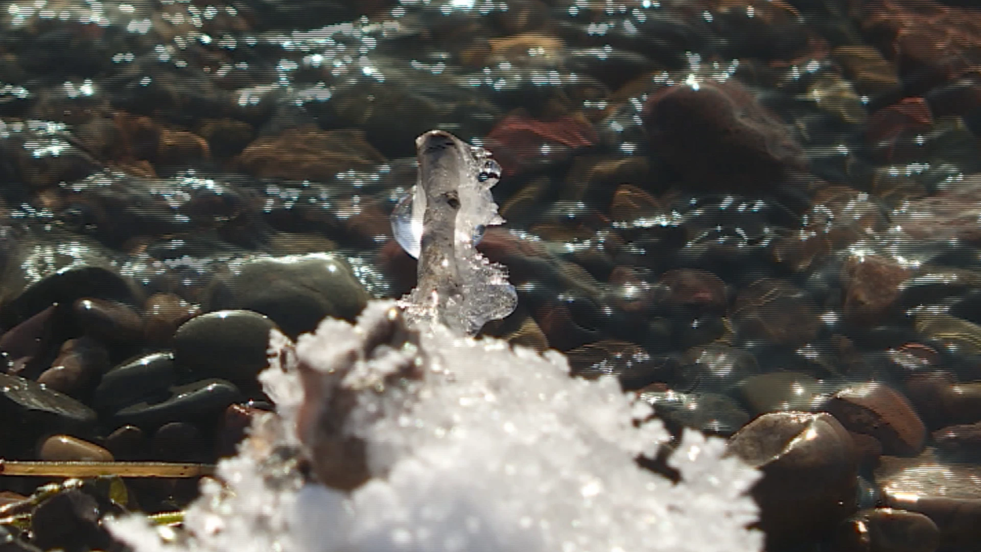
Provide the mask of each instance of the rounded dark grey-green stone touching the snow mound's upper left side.
{"label": "rounded dark grey-green stone touching the snow mound's upper left side", "polygon": [[219,310],[191,318],[174,340],[174,360],[198,377],[221,377],[255,385],[255,376],[269,365],[270,318],[251,310]]}

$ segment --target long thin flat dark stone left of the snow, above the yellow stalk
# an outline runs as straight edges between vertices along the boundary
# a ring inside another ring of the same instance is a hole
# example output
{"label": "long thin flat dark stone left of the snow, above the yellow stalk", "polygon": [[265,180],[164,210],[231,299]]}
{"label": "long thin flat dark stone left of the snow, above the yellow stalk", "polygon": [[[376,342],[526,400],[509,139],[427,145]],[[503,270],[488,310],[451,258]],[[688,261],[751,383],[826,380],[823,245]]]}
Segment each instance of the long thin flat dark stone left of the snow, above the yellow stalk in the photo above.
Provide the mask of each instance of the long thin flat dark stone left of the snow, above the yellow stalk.
{"label": "long thin flat dark stone left of the snow, above the yellow stalk", "polygon": [[210,418],[240,399],[238,388],[224,379],[205,379],[171,388],[171,396],[159,403],[140,402],[113,414],[117,423],[144,430],[170,421]]}

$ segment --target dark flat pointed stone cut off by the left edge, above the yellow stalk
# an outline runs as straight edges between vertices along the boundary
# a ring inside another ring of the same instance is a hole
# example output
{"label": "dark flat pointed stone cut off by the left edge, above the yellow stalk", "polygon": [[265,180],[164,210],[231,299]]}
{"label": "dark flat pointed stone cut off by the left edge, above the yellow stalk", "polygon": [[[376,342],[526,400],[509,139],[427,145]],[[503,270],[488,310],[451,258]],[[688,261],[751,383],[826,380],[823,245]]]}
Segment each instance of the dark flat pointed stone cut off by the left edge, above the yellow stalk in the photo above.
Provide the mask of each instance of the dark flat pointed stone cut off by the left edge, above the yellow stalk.
{"label": "dark flat pointed stone cut off by the left edge, above the yellow stalk", "polygon": [[96,420],[95,412],[77,400],[37,382],[3,373],[0,415],[7,420],[0,434],[30,441],[49,432],[84,432]]}

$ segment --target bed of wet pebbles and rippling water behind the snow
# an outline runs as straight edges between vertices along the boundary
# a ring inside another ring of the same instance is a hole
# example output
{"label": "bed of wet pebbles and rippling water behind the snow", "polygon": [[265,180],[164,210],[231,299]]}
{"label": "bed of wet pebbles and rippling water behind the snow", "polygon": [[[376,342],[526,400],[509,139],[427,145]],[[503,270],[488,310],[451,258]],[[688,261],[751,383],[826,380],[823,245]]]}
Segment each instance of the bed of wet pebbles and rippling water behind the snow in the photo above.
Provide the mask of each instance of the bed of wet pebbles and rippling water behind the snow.
{"label": "bed of wet pebbles and rippling water behind the snow", "polygon": [[[977,550],[979,52],[966,0],[0,0],[0,458],[232,454],[270,329],[414,286],[439,128],[502,169],[487,334],[729,437],[770,552]],[[197,484],[103,483],[0,541]]]}

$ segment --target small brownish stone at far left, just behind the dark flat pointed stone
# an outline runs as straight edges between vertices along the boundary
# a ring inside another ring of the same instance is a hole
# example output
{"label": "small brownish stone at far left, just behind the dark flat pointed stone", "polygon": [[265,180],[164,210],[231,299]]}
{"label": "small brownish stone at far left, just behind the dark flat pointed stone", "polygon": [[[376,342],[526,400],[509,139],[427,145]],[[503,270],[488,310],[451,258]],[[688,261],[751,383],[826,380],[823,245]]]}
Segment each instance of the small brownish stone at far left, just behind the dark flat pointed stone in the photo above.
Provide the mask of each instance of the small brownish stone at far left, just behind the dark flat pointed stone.
{"label": "small brownish stone at far left, just behind the dark flat pointed stone", "polygon": [[37,383],[70,397],[84,398],[109,363],[109,352],[88,337],[62,344],[58,357],[37,377]]}

